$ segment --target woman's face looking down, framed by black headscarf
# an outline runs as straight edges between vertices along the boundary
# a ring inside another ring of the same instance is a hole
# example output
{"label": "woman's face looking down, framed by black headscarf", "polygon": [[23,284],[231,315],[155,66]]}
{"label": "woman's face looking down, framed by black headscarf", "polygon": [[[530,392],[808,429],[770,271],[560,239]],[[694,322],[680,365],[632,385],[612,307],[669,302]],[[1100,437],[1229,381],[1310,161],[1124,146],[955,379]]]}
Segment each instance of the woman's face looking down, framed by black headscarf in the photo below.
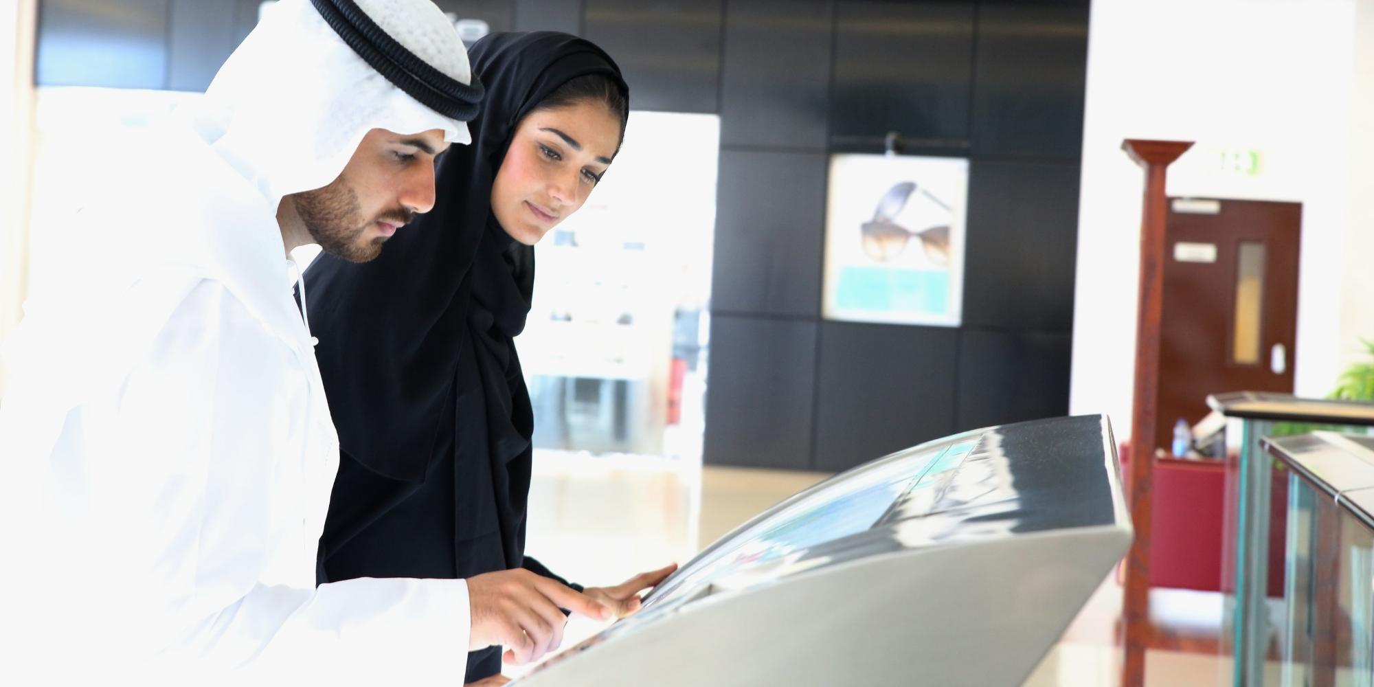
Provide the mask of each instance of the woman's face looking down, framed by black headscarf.
{"label": "woman's face looking down, framed by black headscarf", "polygon": [[618,142],[620,120],[595,100],[526,114],[492,183],[496,221],[515,240],[539,243],[587,202]]}

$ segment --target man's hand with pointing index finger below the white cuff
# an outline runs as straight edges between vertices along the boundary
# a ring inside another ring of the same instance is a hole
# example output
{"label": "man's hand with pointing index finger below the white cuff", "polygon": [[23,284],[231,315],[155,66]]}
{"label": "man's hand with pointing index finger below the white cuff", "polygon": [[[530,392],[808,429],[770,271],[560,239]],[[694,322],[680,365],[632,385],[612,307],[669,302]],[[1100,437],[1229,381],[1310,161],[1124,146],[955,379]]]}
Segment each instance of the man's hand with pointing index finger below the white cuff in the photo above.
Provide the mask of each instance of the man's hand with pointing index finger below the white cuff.
{"label": "man's hand with pointing index finger below the white cuff", "polygon": [[507,647],[504,660],[528,664],[558,649],[563,642],[562,609],[598,620],[610,609],[548,577],[514,569],[467,578],[473,631],[469,651],[493,644]]}

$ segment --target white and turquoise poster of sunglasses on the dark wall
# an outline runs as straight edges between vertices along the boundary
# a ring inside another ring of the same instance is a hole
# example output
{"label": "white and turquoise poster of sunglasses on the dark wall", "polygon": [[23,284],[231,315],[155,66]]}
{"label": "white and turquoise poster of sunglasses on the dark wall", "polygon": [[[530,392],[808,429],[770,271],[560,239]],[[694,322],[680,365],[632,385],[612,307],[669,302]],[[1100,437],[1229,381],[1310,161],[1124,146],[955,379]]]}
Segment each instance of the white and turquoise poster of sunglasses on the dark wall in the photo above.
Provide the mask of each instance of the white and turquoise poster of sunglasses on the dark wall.
{"label": "white and turquoise poster of sunglasses on the dark wall", "polygon": [[958,327],[969,161],[831,155],[829,320]]}

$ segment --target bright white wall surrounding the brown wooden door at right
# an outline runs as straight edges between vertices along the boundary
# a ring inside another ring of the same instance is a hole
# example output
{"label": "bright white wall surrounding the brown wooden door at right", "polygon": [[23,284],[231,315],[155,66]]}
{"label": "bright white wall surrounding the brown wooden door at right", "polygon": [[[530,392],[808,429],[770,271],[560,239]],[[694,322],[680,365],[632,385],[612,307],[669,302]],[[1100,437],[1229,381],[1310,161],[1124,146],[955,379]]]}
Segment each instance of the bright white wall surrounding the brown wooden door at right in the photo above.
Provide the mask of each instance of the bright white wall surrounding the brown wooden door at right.
{"label": "bright white wall surrounding the brown wooden door at right", "polygon": [[[1171,166],[1169,195],[1303,203],[1298,394],[1329,393],[1359,333],[1374,337],[1360,269],[1374,223],[1351,221],[1374,218],[1374,201],[1348,194],[1374,188],[1374,170],[1359,169],[1374,131],[1360,142],[1370,125],[1352,126],[1352,102],[1374,115],[1374,40],[1363,40],[1370,74],[1359,84],[1355,16],[1355,0],[1094,0],[1072,412],[1107,412],[1118,438],[1129,436],[1145,179],[1123,139],[1197,142]],[[1219,148],[1260,151],[1260,173],[1221,172]]]}

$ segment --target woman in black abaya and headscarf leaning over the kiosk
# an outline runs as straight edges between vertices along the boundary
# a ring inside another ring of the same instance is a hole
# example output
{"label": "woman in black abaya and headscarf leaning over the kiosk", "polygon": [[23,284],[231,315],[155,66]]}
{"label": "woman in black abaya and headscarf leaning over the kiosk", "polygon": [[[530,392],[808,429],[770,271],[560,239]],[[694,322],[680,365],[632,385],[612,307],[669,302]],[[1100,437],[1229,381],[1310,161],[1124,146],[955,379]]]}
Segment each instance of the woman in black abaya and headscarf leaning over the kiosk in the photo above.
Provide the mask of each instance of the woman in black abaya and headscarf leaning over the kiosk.
{"label": "woman in black abaya and headscarf leaning over the kiosk", "polygon": [[[492,34],[470,59],[486,99],[473,143],[440,158],[434,209],[376,260],[320,256],[305,273],[341,447],[320,583],[444,577],[471,588],[484,573],[525,569],[566,584],[525,556],[533,416],[513,338],[529,313],[533,245],[606,173],[628,88],[610,56],[562,33]],[[672,569],[572,587],[627,614]],[[500,664],[500,647],[473,651],[467,679]]]}

